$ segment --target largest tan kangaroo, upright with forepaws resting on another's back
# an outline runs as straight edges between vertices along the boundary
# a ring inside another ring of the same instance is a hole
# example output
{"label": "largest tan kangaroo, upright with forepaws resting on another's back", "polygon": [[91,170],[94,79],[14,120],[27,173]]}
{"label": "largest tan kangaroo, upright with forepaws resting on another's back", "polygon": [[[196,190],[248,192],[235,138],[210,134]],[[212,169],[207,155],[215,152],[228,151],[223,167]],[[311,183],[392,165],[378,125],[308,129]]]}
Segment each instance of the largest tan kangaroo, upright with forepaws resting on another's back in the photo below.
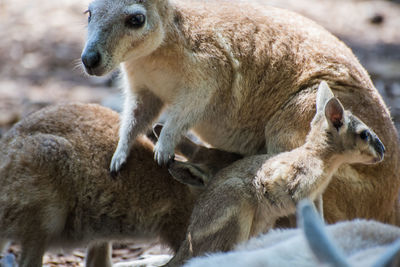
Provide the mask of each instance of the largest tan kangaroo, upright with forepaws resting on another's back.
{"label": "largest tan kangaroo, upright with forepaws resting on another's back", "polygon": [[400,225],[399,144],[390,113],[352,51],[298,14],[251,1],[95,0],[82,62],[88,74],[121,66],[125,103],[110,170],[165,110],[155,146],[172,158],[187,129],[241,155],[304,144],[315,94],[328,82],[342,103],[376,130],[385,162],[344,165],[324,194],[329,223],[374,218]]}

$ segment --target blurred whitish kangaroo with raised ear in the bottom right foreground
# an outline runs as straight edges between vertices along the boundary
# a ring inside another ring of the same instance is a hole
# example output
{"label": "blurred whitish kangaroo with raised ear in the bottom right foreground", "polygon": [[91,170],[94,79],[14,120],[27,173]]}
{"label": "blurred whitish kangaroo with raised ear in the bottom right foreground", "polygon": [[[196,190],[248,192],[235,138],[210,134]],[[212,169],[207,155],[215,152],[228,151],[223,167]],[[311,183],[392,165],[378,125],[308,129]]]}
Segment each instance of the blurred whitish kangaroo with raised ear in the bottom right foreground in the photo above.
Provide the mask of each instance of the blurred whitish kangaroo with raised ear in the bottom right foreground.
{"label": "blurred whitish kangaroo with raised ear in the bottom right foreground", "polygon": [[299,229],[272,230],[235,251],[194,258],[185,267],[399,266],[399,227],[367,220],[325,226],[306,200],[297,214]]}

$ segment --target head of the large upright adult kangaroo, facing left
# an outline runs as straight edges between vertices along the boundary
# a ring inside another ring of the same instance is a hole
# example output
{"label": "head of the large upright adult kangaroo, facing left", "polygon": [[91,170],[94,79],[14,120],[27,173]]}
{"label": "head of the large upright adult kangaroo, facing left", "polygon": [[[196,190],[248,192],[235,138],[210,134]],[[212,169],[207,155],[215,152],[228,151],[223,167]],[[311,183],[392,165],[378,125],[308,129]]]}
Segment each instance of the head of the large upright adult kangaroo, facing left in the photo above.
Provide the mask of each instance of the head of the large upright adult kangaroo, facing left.
{"label": "head of the large upright adult kangaroo, facing left", "polygon": [[82,52],[86,72],[104,75],[121,62],[157,49],[165,35],[161,3],[163,0],[93,1],[86,11],[88,35]]}

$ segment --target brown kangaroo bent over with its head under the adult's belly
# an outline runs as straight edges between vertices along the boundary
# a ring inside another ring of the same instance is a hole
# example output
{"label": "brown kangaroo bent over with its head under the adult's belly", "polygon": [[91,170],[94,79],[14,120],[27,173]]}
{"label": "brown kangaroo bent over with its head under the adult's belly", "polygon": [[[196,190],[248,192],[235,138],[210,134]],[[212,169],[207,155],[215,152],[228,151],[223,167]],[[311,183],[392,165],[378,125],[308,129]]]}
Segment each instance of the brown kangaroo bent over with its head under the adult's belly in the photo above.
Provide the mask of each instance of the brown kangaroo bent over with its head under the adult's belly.
{"label": "brown kangaroo bent over with its head under the adult's belly", "polygon": [[[117,113],[97,105],[59,105],[23,119],[2,138],[0,244],[21,245],[20,267],[42,266],[49,248],[86,244],[91,245],[86,266],[111,266],[107,241],[112,240],[160,238],[178,249],[202,191],[199,185],[209,176],[191,175],[201,167],[181,168],[175,162],[170,173],[197,187],[173,180],[153,161],[153,144],[141,137],[127,168],[112,179],[108,163],[118,121]],[[183,145],[195,149],[187,140]],[[213,166],[218,161],[226,167],[239,158],[215,149],[195,152],[207,154],[193,156],[202,158],[199,163]]]}

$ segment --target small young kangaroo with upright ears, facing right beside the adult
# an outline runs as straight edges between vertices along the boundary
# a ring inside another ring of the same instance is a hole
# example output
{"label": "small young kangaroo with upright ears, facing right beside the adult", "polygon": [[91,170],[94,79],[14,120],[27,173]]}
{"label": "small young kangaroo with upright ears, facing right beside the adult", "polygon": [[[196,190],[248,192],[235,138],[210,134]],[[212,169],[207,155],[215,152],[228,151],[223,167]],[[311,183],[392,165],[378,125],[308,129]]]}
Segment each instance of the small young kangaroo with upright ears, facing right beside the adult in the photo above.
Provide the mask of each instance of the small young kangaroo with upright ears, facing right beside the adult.
{"label": "small young kangaroo with upright ears, facing right beside the adult", "polygon": [[317,111],[302,146],[274,157],[249,156],[219,171],[198,199],[185,242],[169,266],[191,256],[227,251],[271,229],[296,204],[315,200],[342,164],[373,164],[385,148],[360,119],[344,110],[325,82],[318,88]]}

